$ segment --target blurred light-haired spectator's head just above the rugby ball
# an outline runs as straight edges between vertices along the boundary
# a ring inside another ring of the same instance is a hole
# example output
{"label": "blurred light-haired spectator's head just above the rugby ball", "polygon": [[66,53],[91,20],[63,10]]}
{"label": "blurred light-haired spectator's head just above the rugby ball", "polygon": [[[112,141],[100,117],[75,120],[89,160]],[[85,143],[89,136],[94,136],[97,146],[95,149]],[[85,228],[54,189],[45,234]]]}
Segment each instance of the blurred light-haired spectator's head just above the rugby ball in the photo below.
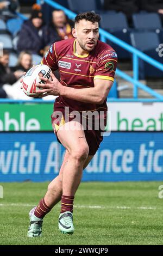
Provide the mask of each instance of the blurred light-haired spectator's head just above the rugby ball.
{"label": "blurred light-haired spectator's head just above the rugby ball", "polygon": [[12,70],[27,72],[30,68],[32,68],[32,55],[28,51],[23,51],[18,57],[17,65]]}

